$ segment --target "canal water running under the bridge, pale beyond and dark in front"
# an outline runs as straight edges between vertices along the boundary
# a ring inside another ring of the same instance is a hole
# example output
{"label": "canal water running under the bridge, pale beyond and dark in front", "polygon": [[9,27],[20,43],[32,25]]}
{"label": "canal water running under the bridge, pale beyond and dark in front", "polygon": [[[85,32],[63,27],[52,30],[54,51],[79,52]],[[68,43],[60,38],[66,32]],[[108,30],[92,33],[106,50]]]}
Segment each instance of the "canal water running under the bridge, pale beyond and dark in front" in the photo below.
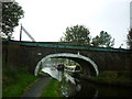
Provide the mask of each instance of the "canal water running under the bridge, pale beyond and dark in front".
{"label": "canal water running under the bridge, pale beyond and dark in front", "polygon": [[67,72],[57,70],[53,66],[47,66],[42,69],[53,78],[57,79],[61,84],[61,94],[64,97],[131,97],[132,89],[119,88],[111,86],[99,86],[88,80],[74,78]]}

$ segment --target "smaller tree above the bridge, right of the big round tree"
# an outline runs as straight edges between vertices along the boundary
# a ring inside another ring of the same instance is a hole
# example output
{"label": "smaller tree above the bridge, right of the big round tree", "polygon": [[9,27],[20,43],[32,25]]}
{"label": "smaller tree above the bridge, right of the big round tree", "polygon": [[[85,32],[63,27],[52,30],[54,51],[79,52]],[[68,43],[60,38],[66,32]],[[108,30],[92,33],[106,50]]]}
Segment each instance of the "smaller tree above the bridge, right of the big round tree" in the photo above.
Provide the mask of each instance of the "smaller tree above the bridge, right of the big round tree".
{"label": "smaller tree above the bridge, right of the big round tree", "polygon": [[99,35],[92,38],[91,44],[97,47],[112,47],[114,45],[114,38],[112,38],[107,32],[101,31]]}

